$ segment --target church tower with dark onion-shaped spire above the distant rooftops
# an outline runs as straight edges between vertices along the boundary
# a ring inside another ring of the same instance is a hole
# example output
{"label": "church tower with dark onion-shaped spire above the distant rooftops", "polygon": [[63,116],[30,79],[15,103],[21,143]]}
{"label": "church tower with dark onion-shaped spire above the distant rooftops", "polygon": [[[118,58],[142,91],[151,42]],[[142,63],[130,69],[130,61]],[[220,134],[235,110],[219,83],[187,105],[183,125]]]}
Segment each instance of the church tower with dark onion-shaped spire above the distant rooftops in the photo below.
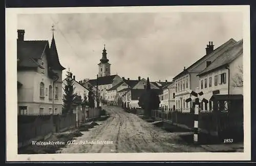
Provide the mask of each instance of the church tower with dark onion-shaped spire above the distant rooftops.
{"label": "church tower with dark onion-shaped spire above the distant rooftops", "polygon": [[110,76],[110,65],[111,64],[109,63],[109,59],[106,58],[106,49],[105,49],[105,44],[104,44],[102,58],[100,59],[100,63],[98,64],[99,77]]}

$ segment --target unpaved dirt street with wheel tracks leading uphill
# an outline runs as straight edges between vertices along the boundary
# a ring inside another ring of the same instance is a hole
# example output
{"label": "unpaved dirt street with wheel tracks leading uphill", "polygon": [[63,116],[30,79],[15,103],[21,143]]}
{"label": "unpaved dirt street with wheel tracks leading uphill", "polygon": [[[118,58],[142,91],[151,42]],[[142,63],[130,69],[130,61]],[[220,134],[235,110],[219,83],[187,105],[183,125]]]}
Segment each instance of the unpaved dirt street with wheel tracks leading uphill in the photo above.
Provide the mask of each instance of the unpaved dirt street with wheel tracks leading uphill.
{"label": "unpaved dirt street with wheel tracks leading uphill", "polygon": [[113,141],[113,144],[67,145],[58,153],[131,153],[131,152],[205,152],[201,147],[184,144],[177,134],[155,127],[119,107],[105,107],[111,117],[97,122],[76,138],[82,141]]}

